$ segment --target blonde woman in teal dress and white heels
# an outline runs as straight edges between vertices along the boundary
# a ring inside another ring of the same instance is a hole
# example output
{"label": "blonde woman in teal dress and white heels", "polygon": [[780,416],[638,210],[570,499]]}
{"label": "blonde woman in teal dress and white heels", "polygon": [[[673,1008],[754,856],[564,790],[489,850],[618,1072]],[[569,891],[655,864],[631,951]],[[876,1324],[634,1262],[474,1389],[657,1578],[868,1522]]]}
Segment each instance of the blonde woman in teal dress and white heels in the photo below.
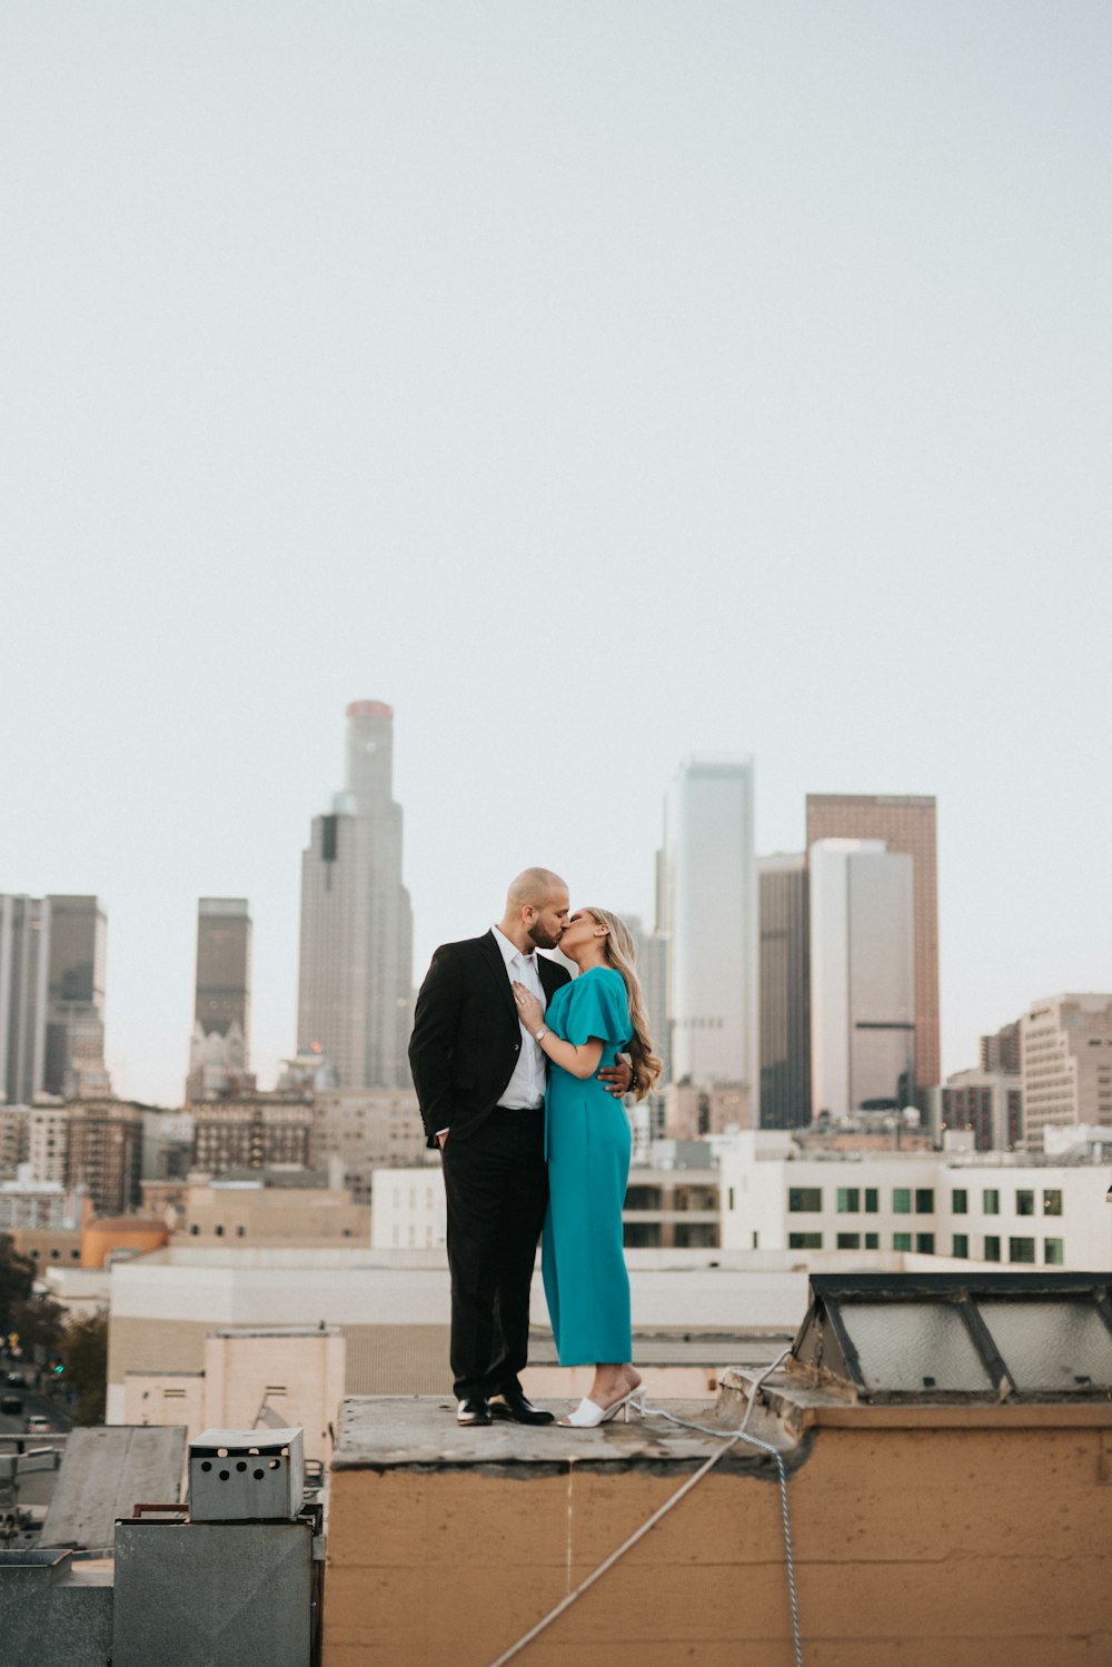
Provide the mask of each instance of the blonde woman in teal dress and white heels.
{"label": "blonde woman in teal dress and white heels", "polygon": [[630,1364],[630,1287],[622,1254],[622,1204],[630,1165],[625,1109],[595,1077],[629,1052],[640,1099],[660,1075],[634,972],[629,929],[605,909],[580,909],[560,950],[579,967],[542,1014],[523,984],[522,1024],[548,1057],[548,1214],[542,1270],[560,1365],[595,1367],[590,1394],[564,1424],[592,1429],[640,1387]]}

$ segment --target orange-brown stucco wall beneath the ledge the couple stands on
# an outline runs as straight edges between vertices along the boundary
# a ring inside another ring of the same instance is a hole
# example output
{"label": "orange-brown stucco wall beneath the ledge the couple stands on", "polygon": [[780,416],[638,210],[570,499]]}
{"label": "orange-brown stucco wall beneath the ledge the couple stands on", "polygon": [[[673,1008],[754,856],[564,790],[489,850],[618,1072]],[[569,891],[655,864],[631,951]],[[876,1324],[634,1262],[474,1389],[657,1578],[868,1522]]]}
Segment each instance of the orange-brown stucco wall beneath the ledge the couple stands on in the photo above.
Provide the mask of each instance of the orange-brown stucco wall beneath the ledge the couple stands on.
{"label": "orange-brown stucco wall beneath the ledge the couple stands on", "polygon": [[[488,1667],[684,1480],[520,1442],[487,1474],[333,1470],[325,1667]],[[807,1667],[1109,1667],[1107,1427],[835,1425],[809,1447],[789,1484]],[[792,1667],[775,1480],[712,1472],[517,1660]]]}

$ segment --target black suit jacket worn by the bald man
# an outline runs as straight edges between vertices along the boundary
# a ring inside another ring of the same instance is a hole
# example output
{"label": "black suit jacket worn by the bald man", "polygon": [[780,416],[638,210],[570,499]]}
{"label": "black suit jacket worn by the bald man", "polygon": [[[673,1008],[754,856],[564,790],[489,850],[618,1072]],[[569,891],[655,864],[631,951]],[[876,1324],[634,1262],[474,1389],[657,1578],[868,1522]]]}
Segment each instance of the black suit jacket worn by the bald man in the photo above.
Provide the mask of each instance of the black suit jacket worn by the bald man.
{"label": "black suit jacket worn by the bald man", "polygon": [[[545,999],[552,1000],[570,974],[555,960],[537,957]],[[522,1027],[493,932],[458,944],[442,944],[417,995],[408,1059],[420,1115],[435,1147],[437,1130],[452,1139],[490,1115],[505,1094],[522,1050]]]}

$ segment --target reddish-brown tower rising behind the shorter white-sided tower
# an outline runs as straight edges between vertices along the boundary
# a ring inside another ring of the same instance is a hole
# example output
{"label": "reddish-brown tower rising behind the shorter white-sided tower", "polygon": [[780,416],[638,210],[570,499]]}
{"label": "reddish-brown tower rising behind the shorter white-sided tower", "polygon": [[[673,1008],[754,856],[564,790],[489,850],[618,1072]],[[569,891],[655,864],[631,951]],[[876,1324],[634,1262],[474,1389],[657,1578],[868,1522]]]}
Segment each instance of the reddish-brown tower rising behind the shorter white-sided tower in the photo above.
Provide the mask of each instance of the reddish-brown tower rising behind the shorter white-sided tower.
{"label": "reddish-brown tower rising behind the shorter white-sided tower", "polygon": [[915,1085],[929,1089],[942,1080],[935,802],[907,793],[807,793],[807,849],[819,839],[879,839],[915,860]]}

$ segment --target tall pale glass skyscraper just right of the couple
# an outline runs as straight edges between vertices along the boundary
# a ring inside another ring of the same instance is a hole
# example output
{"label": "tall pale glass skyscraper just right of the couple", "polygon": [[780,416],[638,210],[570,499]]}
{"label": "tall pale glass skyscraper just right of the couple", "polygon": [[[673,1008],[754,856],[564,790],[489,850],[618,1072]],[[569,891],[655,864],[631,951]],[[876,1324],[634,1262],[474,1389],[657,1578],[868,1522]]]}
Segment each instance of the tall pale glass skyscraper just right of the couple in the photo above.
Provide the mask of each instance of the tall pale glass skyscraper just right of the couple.
{"label": "tall pale glass skyscraper just right of the couple", "polygon": [[665,803],[672,1077],[735,1084],[759,1122],[757,865],[752,758],[687,758]]}

